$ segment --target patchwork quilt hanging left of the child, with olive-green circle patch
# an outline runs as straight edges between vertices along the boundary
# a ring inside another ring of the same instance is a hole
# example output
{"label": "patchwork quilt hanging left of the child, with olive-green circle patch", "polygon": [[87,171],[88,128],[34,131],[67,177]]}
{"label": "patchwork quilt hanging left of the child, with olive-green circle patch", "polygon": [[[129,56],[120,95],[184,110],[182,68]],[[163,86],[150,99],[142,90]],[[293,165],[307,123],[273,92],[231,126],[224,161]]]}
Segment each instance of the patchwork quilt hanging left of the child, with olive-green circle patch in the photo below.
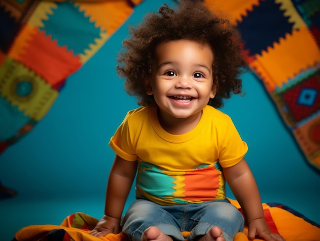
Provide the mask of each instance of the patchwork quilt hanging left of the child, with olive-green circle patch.
{"label": "patchwork quilt hanging left of the child, with olive-green circle patch", "polygon": [[0,153],[48,113],[143,0],[0,1]]}

